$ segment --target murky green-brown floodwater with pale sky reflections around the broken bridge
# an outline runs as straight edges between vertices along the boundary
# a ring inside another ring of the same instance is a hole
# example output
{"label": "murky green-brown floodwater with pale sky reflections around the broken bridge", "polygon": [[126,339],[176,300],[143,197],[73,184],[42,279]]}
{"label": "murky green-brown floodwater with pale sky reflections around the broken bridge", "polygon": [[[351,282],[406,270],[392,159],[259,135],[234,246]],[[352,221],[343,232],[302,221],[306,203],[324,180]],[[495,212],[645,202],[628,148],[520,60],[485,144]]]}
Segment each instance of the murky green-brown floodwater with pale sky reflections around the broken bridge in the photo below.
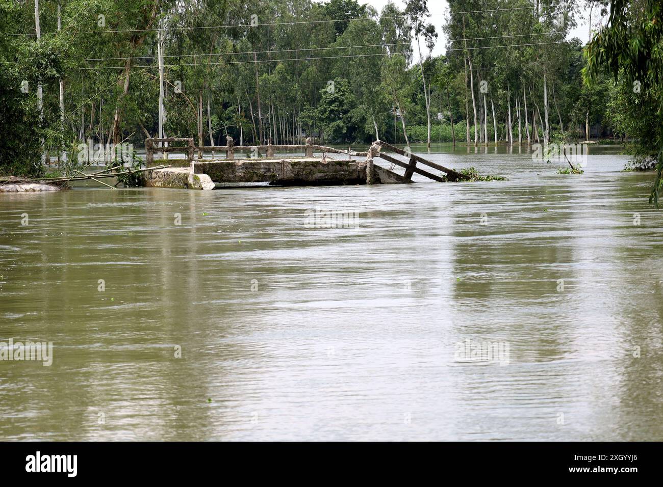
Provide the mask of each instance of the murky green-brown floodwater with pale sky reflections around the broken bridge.
{"label": "murky green-brown floodwater with pale sky reflections around the broken bridge", "polygon": [[662,440],[652,174],[434,150],[509,181],[1,196],[0,439]]}

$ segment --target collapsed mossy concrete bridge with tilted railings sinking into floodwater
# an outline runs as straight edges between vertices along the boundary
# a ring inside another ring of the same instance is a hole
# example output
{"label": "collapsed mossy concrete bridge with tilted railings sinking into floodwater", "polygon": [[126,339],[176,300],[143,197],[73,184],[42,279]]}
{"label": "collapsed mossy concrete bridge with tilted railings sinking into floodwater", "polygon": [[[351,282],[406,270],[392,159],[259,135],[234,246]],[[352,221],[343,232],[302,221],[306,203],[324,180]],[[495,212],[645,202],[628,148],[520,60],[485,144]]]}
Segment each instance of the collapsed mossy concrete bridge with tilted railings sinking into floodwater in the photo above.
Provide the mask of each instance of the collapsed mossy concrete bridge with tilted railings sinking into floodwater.
{"label": "collapsed mossy concrete bridge with tilted railings sinking into floodwater", "polygon": [[[172,146],[171,143],[186,142],[184,146]],[[186,155],[182,159],[169,159],[170,167],[154,169],[145,174],[145,186],[157,188],[214,189],[217,184],[248,184],[267,182],[272,186],[335,186],[351,184],[408,184],[416,172],[434,181],[457,181],[469,179],[465,174],[446,168],[420,156],[376,140],[367,152],[341,150],[312,144],[299,145],[261,145],[235,146],[228,137],[225,146],[195,146],[193,138],[148,138],[145,140],[147,166],[155,164],[154,154],[180,152]],[[158,145],[161,146],[158,146]],[[276,152],[304,151],[303,157],[278,157]],[[394,155],[385,154],[389,150]],[[198,158],[195,154],[198,152]],[[204,152],[212,152],[212,159],[202,158]],[[215,158],[215,153],[225,153],[225,158]],[[314,152],[322,152],[315,157]],[[245,158],[235,158],[245,154]],[[263,156],[264,154],[264,156]],[[337,159],[329,154],[347,155],[347,159]],[[404,156],[407,162],[400,160]],[[355,160],[353,157],[365,157]],[[404,174],[375,164],[381,158],[393,166],[405,169]],[[162,164],[164,160],[158,160]],[[428,172],[417,164],[439,170],[446,178]]]}

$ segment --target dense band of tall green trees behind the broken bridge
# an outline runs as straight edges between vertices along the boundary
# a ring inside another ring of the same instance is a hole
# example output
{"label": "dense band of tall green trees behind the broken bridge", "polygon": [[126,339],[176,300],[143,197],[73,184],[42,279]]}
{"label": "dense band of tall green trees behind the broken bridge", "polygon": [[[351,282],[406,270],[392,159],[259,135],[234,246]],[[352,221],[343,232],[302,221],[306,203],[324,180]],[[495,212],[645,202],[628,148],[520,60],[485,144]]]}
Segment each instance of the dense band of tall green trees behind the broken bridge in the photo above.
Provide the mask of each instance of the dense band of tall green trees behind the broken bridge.
{"label": "dense band of tall green trees behind the broken bridge", "polygon": [[624,84],[583,83],[568,33],[585,3],[450,0],[446,55],[432,56],[442,19],[426,0],[0,0],[0,171],[40,172],[44,150],[73,164],[90,139],[636,137]]}

